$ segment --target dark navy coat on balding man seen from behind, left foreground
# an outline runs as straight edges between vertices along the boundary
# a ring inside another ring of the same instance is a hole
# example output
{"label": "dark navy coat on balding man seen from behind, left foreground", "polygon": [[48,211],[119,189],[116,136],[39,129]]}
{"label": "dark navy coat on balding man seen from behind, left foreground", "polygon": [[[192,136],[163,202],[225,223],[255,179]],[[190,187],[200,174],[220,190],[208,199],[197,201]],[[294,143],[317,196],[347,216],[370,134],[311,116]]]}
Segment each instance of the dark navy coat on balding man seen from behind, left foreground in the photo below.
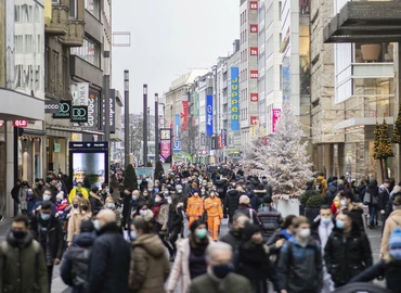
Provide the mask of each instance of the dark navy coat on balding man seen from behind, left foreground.
{"label": "dark navy coat on balding man seen from behind, left foreground", "polygon": [[115,222],[98,232],[90,257],[87,293],[127,293],[130,247]]}

